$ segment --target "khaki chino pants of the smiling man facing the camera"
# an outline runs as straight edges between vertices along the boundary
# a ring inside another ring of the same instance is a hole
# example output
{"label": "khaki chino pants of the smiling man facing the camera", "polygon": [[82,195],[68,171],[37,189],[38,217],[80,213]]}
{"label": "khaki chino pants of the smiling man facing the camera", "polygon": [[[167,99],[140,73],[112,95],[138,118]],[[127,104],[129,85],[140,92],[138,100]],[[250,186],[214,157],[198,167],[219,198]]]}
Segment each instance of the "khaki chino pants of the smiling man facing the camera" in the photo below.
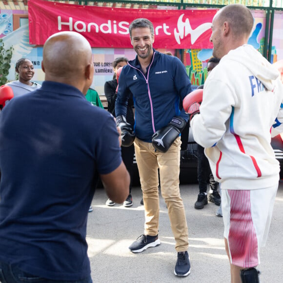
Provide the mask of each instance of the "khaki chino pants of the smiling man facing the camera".
{"label": "khaki chino pants of the smiling man facing the camera", "polygon": [[166,153],[156,151],[151,142],[135,139],[135,153],[144,203],[144,234],[150,236],[158,234],[159,168],[161,194],[167,204],[177,252],[188,249],[188,226],[179,188],[180,150],[180,137],[175,140]]}

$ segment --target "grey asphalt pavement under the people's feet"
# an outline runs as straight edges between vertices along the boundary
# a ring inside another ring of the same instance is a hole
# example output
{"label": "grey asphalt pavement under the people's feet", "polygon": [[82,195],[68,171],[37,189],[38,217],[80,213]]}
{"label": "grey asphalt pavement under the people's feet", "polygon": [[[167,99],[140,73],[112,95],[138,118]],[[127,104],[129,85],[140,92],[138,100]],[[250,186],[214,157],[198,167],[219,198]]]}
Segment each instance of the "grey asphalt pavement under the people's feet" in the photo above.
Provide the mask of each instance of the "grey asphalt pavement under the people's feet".
{"label": "grey asphalt pavement under the people's feet", "polygon": [[[224,249],[223,222],[215,212],[218,206],[208,204],[201,210],[194,208],[198,184],[182,184],[189,227],[189,256],[191,274],[174,276],[177,260],[175,241],[170,227],[166,204],[160,196],[161,244],[133,254],[128,246],[143,234],[144,209],[140,204],[142,191],[133,187],[133,206],[105,205],[107,196],[98,188],[88,214],[87,242],[92,279],[94,283],[229,283],[229,263]],[[283,282],[283,183],[280,183],[275,201],[271,227],[266,246],[261,249],[258,269],[261,283]]]}

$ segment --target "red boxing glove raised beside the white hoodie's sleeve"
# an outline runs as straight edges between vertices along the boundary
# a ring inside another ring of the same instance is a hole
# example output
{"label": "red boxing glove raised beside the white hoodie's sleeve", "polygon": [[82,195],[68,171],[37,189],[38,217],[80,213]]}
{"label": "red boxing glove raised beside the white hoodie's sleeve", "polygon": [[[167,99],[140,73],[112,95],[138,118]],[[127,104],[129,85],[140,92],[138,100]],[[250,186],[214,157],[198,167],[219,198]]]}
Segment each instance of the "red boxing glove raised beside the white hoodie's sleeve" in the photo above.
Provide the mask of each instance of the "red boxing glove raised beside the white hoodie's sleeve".
{"label": "red boxing glove raised beside the white hoodie's sleeve", "polygon": [[203,89],[196,89],[183,99],[183,108],[190,115],[190,120],[192,120],[195,114],[200,113],[202,94]]}

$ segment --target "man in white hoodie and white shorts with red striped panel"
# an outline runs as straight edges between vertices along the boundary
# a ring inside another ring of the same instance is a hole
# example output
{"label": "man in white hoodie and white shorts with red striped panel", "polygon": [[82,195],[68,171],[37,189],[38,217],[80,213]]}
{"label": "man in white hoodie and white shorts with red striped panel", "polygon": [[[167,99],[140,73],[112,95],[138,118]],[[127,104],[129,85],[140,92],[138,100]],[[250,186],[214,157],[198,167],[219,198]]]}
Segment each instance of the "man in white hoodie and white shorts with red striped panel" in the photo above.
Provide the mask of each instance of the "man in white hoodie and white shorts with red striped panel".
{"label": "man in white hoodie and white shorts with red striped panel", "polygon": [[[271,135],[283,132],[279,72],[248,45],[253,17],[231,4],[212,21],[213,56],[221,61],[204,83],[200,114],[191,121],[221,183],[224,240],[231,282],[259,282],[255,268],[265,244],[279,182]],[[271,134],[270,134],[271,132]]]}

